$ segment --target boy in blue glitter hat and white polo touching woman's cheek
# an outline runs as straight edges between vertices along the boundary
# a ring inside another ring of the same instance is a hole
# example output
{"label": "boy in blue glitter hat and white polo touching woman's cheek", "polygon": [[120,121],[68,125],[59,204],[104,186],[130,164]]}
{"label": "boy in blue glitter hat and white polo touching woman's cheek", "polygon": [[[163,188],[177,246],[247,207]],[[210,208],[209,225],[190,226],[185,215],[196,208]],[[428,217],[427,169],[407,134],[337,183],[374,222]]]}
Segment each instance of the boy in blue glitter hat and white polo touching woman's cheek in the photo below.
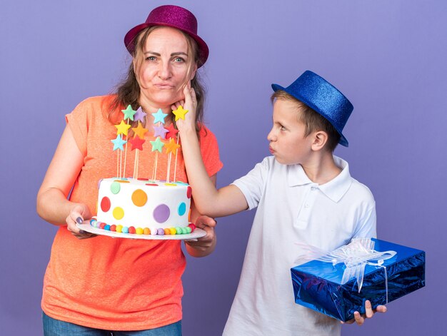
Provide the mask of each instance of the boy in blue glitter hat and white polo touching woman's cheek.
{"label": "boy in blue glitter hat and white polo touching woman's cheek", "polygon": [[[376,236],[373,195],[333,156],[338,143],[348,146],[342,131],[353,106],[311,71],[287,88],[272,88],[273,156],[219,190],[201,163],[194,91],[185,90],[185,108],[193,113],[178,121],[199,212],[221,217],[258,207],[224,335],[339,335],[339,322],[294,302],[290,268],[302,254],[296,243],[335,250],[353,237]],[[366,301],[366,317],[372,315]],[[355,322],[363,321],[356,312]]]}

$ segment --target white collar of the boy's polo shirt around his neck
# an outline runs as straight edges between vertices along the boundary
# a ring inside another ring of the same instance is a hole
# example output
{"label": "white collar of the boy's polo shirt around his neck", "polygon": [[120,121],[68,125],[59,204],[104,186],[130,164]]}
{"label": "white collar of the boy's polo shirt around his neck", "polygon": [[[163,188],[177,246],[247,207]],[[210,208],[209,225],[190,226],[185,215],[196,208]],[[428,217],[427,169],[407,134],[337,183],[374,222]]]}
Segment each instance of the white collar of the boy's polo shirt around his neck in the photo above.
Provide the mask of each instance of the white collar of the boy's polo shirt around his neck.
{"label": "white collar of the boy's polo shirt around his neck", "polygon": [[336,165],[341,168],[341,172],[328,183],[323,185],[318,185],[312,182],[303,170],[301,165],[288,166],[288,186],[298,186],[298,185],[314,185],[321,190],[328,198],[334,202],[341,200],[343,195],[348,191],[351,186],[352,179],[349,173],[349,165],[342,158],[338,156],[333,156],[333,160]]}

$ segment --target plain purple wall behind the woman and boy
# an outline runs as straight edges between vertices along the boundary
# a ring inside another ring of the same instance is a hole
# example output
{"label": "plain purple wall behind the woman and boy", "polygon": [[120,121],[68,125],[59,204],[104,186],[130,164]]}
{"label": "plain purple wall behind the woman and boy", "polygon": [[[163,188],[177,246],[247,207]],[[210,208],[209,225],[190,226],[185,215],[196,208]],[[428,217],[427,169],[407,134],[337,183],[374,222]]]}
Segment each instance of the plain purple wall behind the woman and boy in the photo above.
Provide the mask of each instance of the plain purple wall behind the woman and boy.
{"label": "plain purple wall behind the woman and boy", "polygon": [[[225,163],[219,185],[269,155],[271,83],[288,85],[311,69],[351,99],[351,146],[336,154],[373,191],[379,237],[426,250],[427,264],[425,288],[361,329],[344,326],[343,335],[439,335],[447,297],[447,2],[171,3],[196,14],[211,49],[206,120]],[[56,228],[36,215],[35,198],[64,114],[111,91],[129,62],[124,34],[159,4],[166,2],[1,1],[2,335],[41,335],[42,278]],[[216,252],[189,258],[184,335],[221,334],[253,215],[219,219]]]}

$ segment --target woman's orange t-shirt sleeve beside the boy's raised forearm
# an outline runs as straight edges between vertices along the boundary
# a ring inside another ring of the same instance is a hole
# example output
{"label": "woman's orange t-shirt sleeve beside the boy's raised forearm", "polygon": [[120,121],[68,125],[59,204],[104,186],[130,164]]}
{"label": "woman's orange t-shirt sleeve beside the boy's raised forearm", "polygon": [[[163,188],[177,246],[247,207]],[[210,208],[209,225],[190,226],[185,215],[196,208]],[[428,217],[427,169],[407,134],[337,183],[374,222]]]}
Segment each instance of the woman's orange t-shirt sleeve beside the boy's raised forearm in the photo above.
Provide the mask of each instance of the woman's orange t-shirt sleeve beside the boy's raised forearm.
{"label": "woman's orange t-shirt sleeve beside the boy's raised forearm", "polygon": [[202,159],[204,160],[206,172],[209,176],[216,175],[216,173],[224,166],[224,163],[221,162],[221,158],[219,157],[219,146],[217,144],[216,136],[214,136],[214,133],[209,131],[205,126],[201,127],[199,136],[200,151]]}

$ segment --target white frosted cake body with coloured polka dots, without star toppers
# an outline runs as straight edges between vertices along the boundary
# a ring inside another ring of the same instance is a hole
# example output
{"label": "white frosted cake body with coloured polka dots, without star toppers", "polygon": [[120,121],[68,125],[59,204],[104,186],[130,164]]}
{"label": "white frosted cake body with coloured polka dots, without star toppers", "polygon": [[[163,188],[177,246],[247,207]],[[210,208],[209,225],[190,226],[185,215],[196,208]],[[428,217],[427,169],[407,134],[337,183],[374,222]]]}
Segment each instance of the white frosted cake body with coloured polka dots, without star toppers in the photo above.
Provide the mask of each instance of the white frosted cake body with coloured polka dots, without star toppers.
{"label": "white frosted cake body with coloured polka dots, without star toppers", "polygon": [[104,178],[99,182],[98,222],[123,227],[184,228],[189,225],[191,187],[159,180]]}

